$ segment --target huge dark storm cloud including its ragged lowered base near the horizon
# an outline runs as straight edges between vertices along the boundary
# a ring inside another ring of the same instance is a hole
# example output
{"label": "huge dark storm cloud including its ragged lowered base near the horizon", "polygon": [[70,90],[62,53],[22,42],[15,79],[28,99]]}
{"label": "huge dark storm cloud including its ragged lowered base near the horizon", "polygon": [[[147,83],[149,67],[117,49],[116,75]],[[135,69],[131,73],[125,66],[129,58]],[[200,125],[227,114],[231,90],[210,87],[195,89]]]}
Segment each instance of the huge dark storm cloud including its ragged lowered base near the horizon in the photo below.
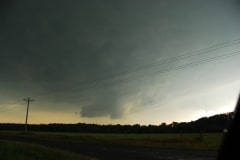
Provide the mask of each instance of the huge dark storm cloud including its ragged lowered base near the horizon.
{"label": "huge dark storm cloud including its ragged lowered base near the horizon", "polygon": [[[215,12],[216,1],[210,7],[203,1],[185,2],[17,1],[0,16],[0,85],[19,95],[44,91],[42,97],[49,101],[78,104],[84,117],[121,117],[122,99],[161,81],[139,81],[144,75],[151,80],[150,71],[109,75],[208,43],[204,36],[215,27],[206,16]],[[206,24],[213,26],[210,31]],[[139,78],[128,81],[134,74]],[[125,81],[131,85],[119,89]]]}

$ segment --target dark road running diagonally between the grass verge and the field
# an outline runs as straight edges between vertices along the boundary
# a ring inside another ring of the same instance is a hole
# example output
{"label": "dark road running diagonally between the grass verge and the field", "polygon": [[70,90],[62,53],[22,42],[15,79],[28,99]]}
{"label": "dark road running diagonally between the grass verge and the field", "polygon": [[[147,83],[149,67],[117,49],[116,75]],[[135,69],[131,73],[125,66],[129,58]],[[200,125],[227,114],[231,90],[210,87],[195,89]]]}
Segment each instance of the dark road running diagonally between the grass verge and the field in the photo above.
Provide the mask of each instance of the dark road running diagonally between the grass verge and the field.
{"label": "dark road running diagonally between the grass verge and the field", "polygon": [[96,157],[99,160],[214,160],[217,154],[214,151],[189,151],[59,142],[12,135],[0,135],[0,139],[28,142],[64,149],[71,152]]}

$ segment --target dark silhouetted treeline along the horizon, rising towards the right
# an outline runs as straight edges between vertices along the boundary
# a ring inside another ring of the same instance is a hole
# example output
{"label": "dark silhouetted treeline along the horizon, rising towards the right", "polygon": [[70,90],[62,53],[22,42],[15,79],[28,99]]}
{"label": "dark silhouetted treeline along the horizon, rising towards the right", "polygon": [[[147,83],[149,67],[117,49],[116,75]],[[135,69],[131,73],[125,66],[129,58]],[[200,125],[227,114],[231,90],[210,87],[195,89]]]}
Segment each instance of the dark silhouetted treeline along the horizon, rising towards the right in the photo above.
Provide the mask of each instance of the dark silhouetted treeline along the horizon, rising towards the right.
{"label": "dark silhouetted treeline along the horizon, rising towards the right", "polygon": [[[214,133],[223,132],[233,119],[233,112],[200,118],[191,122],[172,122],[160,125],[97,125],[97,124],[30,124],[29,131],[82,133]],[[1,123],[0,130],[23,131],[24,124]]]}

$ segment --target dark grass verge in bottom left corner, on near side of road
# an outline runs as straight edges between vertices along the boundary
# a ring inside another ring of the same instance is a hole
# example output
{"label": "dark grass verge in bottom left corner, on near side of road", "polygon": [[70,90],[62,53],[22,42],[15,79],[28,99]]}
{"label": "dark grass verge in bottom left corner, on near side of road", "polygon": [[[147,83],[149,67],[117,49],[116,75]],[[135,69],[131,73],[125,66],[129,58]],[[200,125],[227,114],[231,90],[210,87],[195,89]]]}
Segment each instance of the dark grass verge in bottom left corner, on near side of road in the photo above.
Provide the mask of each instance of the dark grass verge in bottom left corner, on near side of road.
{"label": "dark grass verge in bottom left corner, on near side of road", "polygon": [[94,160],[59,149],[5,140],[0,140],[0,157],[4,160]]}

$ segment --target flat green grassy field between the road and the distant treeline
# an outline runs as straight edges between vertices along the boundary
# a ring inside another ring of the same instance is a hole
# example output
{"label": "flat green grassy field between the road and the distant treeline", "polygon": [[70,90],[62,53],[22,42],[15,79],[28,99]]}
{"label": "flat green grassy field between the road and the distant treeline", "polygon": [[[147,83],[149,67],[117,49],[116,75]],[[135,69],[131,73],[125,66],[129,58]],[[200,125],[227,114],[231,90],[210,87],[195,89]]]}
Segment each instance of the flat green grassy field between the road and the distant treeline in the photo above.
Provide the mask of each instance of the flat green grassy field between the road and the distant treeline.
{"label": "flat green grassy field between the road and the distant treeline", "polygon": [[32,132],[22,134],[16,132],[0,132],[1,134],[30,137],[40,140],[104,144],[136,147],[218,150],[221,145],[222,133],[203,134],[100,134],[100,133],[51,133]]}

